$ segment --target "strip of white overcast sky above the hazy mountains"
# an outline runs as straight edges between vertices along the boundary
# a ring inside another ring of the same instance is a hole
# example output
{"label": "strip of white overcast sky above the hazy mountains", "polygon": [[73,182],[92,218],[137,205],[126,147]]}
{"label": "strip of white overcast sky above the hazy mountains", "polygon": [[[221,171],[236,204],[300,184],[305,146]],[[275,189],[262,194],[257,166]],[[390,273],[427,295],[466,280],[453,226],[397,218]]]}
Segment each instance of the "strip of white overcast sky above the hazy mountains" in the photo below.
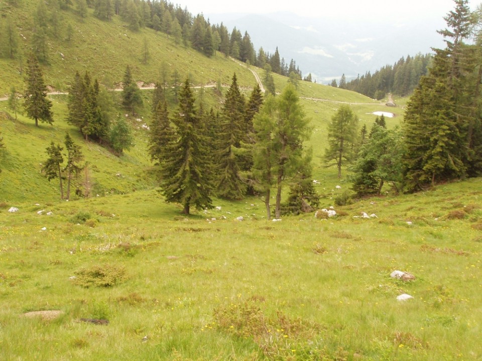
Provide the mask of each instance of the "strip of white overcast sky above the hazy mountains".
{"label": "strip of white overcast sky above the hazy mountains", "polygon": [[[441,18],[454,9],[453,0],[177,0],[181,8],[187,7],[193,15],[203,13],[206,17],[210,14],[220,13],[255,13],[292,12],[297,15],[322,18],[326,16],[352,19],[365,17],[368,20],[384,17],[393,18]],[[470,0],[472,10],[480,0]]]}

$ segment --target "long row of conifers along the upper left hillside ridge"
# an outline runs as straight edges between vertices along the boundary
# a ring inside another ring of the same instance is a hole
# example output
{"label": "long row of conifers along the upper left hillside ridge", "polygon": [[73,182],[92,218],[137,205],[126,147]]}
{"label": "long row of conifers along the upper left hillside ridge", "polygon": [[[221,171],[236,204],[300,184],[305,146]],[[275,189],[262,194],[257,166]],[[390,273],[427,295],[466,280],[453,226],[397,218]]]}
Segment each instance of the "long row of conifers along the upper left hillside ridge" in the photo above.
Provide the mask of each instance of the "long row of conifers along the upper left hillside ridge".
{"label": "long row of conifers along the upper left hillside ridge", "polygon": [[[19,5],[14,0],[10,2],[13,3],[12,6]],[[52,0],[48,7],[44,1],[39,1],[33,11],[30,48],[41,63],[49,61],[49,39],[60,37],[70,41],[74,37],[72,25],[61,21],[62,11],[75,13],[80,21],[90,13],[102,21],[110,21],[114,16],[119,16],[131,31],[151,28],[167,34],[176,44],[192,47],[208,57],[219,51],[226,57],[260,68],[269,65],[270,71],[277,74],[289,76],[294,73],[302,78],[296,62],[293,59],[285,61],[280,57],[278,48],[273,54],[265,52],[263,48],[257,52],[248,32],[243,35],[236,28],[229,32],[222,23],[211,25],[202,14],[194,17],[187,8],[182,9],[165,0]],[[21,56],[20,34],[17,30],[19,25],[15,24],[12,16],[0,19],[0,56],[11,59]],[[22,24],[22,28],[24,26]]]}

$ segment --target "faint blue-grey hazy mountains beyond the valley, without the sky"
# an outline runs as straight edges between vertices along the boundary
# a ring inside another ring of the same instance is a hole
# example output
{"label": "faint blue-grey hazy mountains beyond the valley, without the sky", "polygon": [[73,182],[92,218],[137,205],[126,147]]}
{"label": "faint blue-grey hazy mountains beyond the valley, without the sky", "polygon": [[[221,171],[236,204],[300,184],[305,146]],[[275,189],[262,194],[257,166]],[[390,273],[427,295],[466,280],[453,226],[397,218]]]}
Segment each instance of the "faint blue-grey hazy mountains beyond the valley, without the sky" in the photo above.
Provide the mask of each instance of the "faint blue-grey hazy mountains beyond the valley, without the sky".
{"label": "faint blue-grey hazy mountains beyond the valley, without the sky", "polygon": [[[344,22],[334,18],[303,18],[291,13],[206,15],[242,33],[248,31],[258,51],[274,53],[278,47],[287,64],[296,61],[303,76],[311,73],[318,82],[347,79],[394,64],[401,57],[430,53],[443,47],[436,32],[443,19],[414,18],[398,23],[389,18]],[[393,17],[396,19],[396,17]]]}

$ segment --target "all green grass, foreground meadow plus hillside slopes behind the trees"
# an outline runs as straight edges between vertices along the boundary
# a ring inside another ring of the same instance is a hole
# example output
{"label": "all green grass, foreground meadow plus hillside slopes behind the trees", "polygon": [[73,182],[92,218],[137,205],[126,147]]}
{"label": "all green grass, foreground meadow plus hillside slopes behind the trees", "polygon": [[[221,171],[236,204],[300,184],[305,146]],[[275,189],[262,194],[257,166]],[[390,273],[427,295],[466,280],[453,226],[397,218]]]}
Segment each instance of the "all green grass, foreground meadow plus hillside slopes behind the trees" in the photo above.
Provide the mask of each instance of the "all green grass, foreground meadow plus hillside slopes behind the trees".
{"label": "all green grass, foreground meadow plus hillside slopes behind the trees", "polygon": [[[7,10],[0,4],[1,14]],[[31,10],[18,11],[28,25]],[[115,86],[128,64],[144,83],[168,69],[197,86],[228,86],[235,72],[247,96],[255,84],[245,66],[205,58],[164,34],[128,33],[118,20],[82,22],[70,13],[60,32],[69,22],[75,41],[52,40],[43,67],[57,90],[87,68]],[[145,38],[148,64],[140,60]],[[19,64],[0,60],[0,94],[23,88]],[[274,80],[281,91],[287,79]],[[219,108],[213,88],[195,91]],[[129,118],[135,146],[120,157],[65,122],[65,95],[51,96],[52,126],[14,119],[0,102],[0,360],[481,359],[482,178],[403,196],[387,188],[383,197],[338,207],[350,183],[346,167],[338,179],[322,159],[331,116],[349,103],[360,127],[370,129],[374,111],[388,111],[396,115],[386,119],[392,128],[407,99],[388,108],[307,82],[298,92],[313,129],[306,145],[320,208],[334,206],[333,218],[269,222],[258,198],[214,199],[217,208],[182,216],[160,195],[148,156],[142,125],[150,123],[150,90],[143,90],[145,108]],[[61,202],[57,181],[41,168],[47,146],[62,144],[67,131],[84,154],[78,186],[85,194],[88,183],[89,197]],[[361,218],[364,212],[374,216]],[[394,270],[415,280],[393,279]],[[413,298],[398,301],[403,293]]]}

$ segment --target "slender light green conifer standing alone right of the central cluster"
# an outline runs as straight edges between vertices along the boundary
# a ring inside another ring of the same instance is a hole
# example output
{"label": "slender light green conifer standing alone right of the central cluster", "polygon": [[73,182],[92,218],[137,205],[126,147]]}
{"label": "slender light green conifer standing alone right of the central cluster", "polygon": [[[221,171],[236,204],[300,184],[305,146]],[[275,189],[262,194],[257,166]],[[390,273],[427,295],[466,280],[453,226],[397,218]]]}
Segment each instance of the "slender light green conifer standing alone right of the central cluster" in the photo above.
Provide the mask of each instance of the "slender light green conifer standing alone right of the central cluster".
{"label": "slender light green conifer standing alone right of the central cluster", "polygon": [[328,124],[328,148],[325,149],[325,161],[334,160],[341,178],[344,161],[352,158],[352,148],[356,138],[357,117],[349,105],[341,105]]}

